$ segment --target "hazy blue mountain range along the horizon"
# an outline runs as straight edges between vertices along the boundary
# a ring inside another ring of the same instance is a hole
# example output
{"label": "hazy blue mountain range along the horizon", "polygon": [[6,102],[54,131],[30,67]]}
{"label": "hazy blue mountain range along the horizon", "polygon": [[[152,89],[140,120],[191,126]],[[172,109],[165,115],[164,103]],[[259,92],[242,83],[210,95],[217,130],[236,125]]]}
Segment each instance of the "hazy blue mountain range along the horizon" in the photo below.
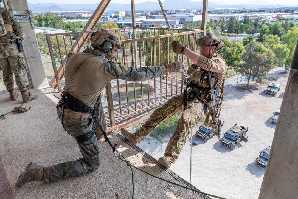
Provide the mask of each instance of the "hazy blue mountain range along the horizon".
{"label": "hazy blue mountain range along the horizon", "polygon": [[[262,2],[262,1],[260,1]],[[259,2],[259,3],[260,3]],[[286,6],[286,5],[260,5],[257,1],[253,4],[240,4],[240,5],[220,5],[212,2],[208,2],[208,10],[214,9],[268,9],[268,8],[286,8],[286,7],[298,7]],[[94,11],[98,4],[56,4],[56,3],[38,3],[30,4],[28,2],[29,9],[32,12],[44,12],[44,11]],[[190,0],[165,0],[162,4],[165,10],[180,10],[180,9],[202,9],[203,1],[190,1]],[[142,10],[160,10],[158,2],[146,1],[143,3],[135,4],[136,11]],[[131,11],[131,4],[119,4],[110,3],[106,8],[106,11]]]}

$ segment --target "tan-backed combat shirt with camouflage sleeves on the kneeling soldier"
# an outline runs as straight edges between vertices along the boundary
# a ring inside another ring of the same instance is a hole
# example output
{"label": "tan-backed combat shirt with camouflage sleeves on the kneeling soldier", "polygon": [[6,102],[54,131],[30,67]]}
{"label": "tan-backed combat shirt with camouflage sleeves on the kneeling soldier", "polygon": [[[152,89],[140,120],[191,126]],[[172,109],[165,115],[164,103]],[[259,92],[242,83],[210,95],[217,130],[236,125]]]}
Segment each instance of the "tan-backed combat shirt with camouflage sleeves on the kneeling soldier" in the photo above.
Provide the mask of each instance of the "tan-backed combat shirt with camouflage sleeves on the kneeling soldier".
{"label": "tan-backed combat shirt with camouflage sleeves on the kneeling soldier", "polygon": [[73,53],[65,65],[64,91],[89,107],[113,79],[145,81],[164,75],[166,67],[132,68],[110,61],[99,50],[86,48],[84,52]]}

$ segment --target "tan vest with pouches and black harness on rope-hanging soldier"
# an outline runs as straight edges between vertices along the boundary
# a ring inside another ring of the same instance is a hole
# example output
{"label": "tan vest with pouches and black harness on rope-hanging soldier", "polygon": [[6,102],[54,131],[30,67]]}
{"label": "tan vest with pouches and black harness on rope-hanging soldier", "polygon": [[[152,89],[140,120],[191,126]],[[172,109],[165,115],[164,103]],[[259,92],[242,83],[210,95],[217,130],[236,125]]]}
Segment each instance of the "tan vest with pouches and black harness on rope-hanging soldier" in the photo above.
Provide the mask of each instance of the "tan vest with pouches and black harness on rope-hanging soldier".
{"label": "tan vest with pouches and black harness on rope-hanging soldier", "polygon": [[[207,111],[206,104],[211,101],[209,94],[209,84],[208,84],[208,72],[195,64],[192,64],[187,70],[187,74],[190,76],[190,81],[185,82],[186,88],[184,89],[184,110],[187,108],[186,103],[197,98],[200,100],[201,104],[204,107],[204,113]],[[212,78],[212,88],[215,90],[215,103],[219,103],[218,95],[221,90],[221,85],[219,80],[213,78],[213,72],[211,75]],[[188,90],[189,89],[189,90]],[[187,91],[188,90],[188,91]],[[188,95],[188,97],[187,97]]]}

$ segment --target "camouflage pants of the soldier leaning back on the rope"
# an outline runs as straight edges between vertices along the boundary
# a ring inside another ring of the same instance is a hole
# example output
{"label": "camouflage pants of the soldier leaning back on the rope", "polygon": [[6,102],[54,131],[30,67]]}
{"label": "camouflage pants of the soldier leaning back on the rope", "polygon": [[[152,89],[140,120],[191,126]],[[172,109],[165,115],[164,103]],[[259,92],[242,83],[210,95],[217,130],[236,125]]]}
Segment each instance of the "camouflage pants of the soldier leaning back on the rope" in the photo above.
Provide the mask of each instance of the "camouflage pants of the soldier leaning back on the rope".
{"label": "camouflage pants of the soldier leaning back on the rope", "polygon": [[190,127],[204,115],[203,106],[198,99],[188,102],[187,109],[183,111],[183,94],[171,98],[162,107],[157,108],[145,124],[136,130],[136,141],[141,143],[163,120],[181,113],[182,116],[164,153],[165,157],[175,163],[189,138]]}

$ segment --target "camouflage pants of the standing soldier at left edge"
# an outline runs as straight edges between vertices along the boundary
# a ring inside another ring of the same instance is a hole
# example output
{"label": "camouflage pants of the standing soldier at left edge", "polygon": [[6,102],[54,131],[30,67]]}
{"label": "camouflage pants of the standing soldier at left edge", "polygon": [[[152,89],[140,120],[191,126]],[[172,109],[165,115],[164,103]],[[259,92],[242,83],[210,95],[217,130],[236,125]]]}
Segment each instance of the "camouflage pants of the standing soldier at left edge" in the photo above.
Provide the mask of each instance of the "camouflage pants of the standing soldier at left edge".
{"label": "camouflage pants of the standing soldier at left edge", "polygon": [[5,50],[9,53],[7,58],[0,58],[0,67],[2,69],[3,83],[7,90],[12,90],[14,87],[13,74],[15,82],[20,91],[26,90],[25,68],[26,61],[23,53],[18,50],[17,44],[2,44]]}

